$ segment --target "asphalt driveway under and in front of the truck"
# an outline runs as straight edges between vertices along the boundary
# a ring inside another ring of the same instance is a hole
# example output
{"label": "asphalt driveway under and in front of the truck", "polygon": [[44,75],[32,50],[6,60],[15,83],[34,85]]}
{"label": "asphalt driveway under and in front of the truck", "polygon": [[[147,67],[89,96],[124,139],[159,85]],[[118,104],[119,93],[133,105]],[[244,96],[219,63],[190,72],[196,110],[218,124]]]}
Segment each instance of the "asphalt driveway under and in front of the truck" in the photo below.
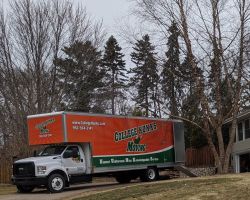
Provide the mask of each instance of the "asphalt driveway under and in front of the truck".
{"label": "asphalt driveway under and in front of the truck", "polygon": [[115,188],[121,188],[128,185],[138,184],[138,182],[129,184],[118,184],[117,182],[102,182],[73,185],[65,188],[62,193],[50,194],[45,189],[36,189],[29,194],[15,193],[11,195],[1,195],[1,200],[70,200],[78,196],[84,196],[98,191],[105,191]]}

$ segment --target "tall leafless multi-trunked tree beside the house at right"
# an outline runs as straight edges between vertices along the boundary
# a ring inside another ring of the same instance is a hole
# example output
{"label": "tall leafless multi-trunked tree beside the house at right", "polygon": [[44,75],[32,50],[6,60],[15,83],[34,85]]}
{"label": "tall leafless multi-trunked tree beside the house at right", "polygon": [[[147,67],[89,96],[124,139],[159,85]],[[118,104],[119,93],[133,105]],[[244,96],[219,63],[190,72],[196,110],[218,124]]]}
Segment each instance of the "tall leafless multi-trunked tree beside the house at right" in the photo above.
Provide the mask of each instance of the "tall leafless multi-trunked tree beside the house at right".
{"label": "tall leafless multi-trunked tree beside the house at right", "polygon": [[[203,130],[213,152],[218,172],[227,173],[235,138],[236,117],[243,105],[242,94],[245,88],[249,87],[249,73],[245,73],[249,67],[245,45],[248,35],[246,27],[249,25],[249,2],[136,2],[137,14],[157,26],[168,27],[170,19],[178,23],[183,39],[182,48],[193,74],[194,89],[198,93],[203,113],[201,124],[189,122]],[[229,142],[226,143],[222,126],[230,117],[232,125],[228,135]],[[218,150],[213,140],[214,136],[218,141]]]}

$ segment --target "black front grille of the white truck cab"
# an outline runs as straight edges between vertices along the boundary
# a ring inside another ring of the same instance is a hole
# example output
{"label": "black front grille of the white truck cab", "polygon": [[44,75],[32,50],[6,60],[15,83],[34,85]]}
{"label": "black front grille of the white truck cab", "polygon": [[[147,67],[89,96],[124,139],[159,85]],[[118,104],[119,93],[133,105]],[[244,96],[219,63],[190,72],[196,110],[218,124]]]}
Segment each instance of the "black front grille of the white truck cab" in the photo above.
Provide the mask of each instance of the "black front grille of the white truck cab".
{"label": "black front grille of the white truck cab", "polygon": [[15,177],[32,177],[35,176],[34,162],[14,163],[13,175]]}

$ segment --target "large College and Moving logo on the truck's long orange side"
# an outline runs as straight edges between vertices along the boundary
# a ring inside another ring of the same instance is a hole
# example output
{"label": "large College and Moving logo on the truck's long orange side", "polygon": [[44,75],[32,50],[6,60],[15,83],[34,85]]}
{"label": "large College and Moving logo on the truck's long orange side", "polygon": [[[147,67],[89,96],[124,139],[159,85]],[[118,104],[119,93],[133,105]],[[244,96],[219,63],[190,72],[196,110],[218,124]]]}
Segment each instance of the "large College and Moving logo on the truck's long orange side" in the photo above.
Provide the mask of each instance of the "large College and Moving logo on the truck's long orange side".
{"label": "large College and Moving logo on the truck's long orange side", "polygon": [[115,132],[115,142],[123,141],[132,138],[128,141],[127,152],[145,152],[147,145],[141,144],[143,135],[150,134],[157,130],[156,122],[150,124],[144,124],[142,126],[127,129],[121,132]]}

